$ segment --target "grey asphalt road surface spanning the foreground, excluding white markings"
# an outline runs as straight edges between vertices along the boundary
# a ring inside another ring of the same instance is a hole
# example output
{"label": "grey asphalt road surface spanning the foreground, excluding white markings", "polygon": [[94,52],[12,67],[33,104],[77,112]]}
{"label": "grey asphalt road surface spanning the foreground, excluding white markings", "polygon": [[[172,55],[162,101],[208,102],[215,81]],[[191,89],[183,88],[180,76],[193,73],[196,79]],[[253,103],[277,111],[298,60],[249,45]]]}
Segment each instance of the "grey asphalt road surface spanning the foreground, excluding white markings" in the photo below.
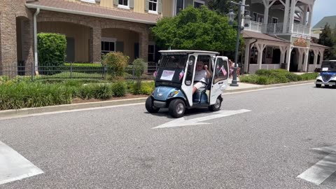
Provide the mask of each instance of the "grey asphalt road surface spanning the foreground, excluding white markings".
{"label": "grey asphalt road surface spanning the foreground, excluding white markings", "polygon": [[312,148],[336,145],[336,90],[223,97],[222,110],[251,111],[161,129],[174,118],[144,104],[0,120],[0,141],[44,172],[0,188],[336,188],[335,173],[319,186],[297,178],[328,155]]}

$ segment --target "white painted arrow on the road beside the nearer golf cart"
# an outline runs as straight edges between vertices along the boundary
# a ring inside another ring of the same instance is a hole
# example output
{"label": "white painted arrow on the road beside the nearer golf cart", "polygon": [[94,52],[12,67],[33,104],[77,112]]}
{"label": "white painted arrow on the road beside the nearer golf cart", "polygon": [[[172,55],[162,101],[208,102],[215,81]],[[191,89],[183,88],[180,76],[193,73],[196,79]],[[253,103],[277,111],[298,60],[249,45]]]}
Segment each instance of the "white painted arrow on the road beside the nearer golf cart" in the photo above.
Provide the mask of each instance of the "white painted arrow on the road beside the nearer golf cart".
{"label": "white painted arrow on the road beside the nearer golf cart", "polygon": [[184,118],[179,118],[176,120],[172,120],[168,123],[159,125],[158,127],[153,127],[152,129],[158,129],[158,128],[165,128],[165,127],[182,127],[182,126],[188,126],[188,125],[204,125],[209,123],[202,123],[204,120],[212,120],[216,118],[222,118],[225,116],[232,116],[238,113],[246,113],[250,110],[241,109],[238,111],[217,111],[214,115],[211,116],[205,116],[201,118],[195,118],[190,120],[185,120]]}

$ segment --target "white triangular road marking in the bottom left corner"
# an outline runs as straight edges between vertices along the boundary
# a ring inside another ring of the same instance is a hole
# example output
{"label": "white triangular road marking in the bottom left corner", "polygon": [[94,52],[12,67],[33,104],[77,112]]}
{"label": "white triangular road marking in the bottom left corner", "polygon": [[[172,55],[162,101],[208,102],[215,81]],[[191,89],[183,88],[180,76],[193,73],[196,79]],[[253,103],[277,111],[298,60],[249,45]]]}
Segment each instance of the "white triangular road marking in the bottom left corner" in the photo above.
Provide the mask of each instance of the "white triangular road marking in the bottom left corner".
{"label": "white triangular road marking in the bottom left corner", "polygon": [[0,141],[0,185],[38,174],[43,171]]}

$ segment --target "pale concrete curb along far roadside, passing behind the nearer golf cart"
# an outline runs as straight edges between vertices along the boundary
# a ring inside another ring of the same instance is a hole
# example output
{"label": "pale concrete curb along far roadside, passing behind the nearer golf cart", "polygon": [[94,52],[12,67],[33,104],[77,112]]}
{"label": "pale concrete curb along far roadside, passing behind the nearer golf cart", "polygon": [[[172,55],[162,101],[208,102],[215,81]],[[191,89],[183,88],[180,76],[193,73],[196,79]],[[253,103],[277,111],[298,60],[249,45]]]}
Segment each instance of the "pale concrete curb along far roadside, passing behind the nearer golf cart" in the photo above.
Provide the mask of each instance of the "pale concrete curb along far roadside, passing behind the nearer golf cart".
{"label": "pale concrete curb along far roadside, passing behind the nearer golf cart", "polygon": [[[307,81],[300,81],[300,82],[295,82],[295,83],[260,85],[258,87],[227,90],[223,92],[223,94],[228,94],[231,92],[248,91],[248,90],[259,90],[259,89],[273,88],[273,87],[308,84],[308,83],[314,83],[314,81],[307,80]],[[143,102],[146,102],[146,99],[147,99],[146,97],[141,97],[141,98],[135,98],[135,99],[120,99],[120,100],[111,100],[111,101],[104,101],[104,102],[87,102],[87,103],[80,103],[80,104],[63,104],[63,105],[58,105],[58,106],[45,106],[45,107],[38,107],[38,108],[6,110],[6,111],[0,111],[0,118],[6,118],[10,116],[26,116],[26,115],[34,114],[34,113],[45,113],[45,112],[52,112],[52,111],[69,111],[69,110],[75,110],[75,109],[89,109],[89,108],[97,108],[97,107],[105,107],[105,106],[116,106],[116,105],[122,105],[122,104],[143,103]]]}

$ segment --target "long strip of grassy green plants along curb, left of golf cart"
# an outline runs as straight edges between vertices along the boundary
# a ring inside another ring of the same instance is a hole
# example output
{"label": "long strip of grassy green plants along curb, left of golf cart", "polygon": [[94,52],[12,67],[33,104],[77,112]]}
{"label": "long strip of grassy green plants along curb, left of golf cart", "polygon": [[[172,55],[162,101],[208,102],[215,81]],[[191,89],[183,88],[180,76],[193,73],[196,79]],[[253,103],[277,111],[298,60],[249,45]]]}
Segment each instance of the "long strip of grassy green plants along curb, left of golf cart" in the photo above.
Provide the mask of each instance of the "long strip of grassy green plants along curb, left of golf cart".
{"label": "long strip of grassy green plants along curb, left of golf cart", "polygon": [[69,80],[64,83],[19,81],[0,82],[0,110],[71,104],[72,99],[111,99],[123,97],[127,92],[151,94],[154,84],[142,83],[135,90],[135,82],[90,83]]}

